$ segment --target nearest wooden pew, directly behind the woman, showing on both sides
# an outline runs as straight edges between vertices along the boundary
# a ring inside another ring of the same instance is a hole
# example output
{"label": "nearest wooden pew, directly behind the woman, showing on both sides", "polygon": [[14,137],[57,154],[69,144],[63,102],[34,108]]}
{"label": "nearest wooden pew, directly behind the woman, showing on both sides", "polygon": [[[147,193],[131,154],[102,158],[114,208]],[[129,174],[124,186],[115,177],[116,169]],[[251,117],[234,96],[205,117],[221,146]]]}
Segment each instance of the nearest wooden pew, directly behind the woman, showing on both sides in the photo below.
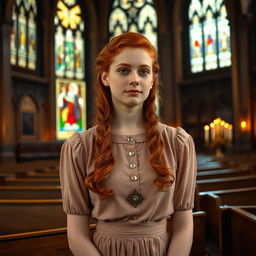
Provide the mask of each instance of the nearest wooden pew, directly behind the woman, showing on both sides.
{"label": "nearest wooden pew, directly behind the woman, showing on both sides", "polygon": [[[194,235],[190,256],[204,256],[205,212],[194,212]],[[168,229],[171,227],[168,218]],[[91,236],[95,224],[90,224]],[[66,228],[42,230],[29,233],[19,233],[0,236],[0,252],[3,256],[27,256],[36,252],[37,256],[72,256],[68,248]]]}

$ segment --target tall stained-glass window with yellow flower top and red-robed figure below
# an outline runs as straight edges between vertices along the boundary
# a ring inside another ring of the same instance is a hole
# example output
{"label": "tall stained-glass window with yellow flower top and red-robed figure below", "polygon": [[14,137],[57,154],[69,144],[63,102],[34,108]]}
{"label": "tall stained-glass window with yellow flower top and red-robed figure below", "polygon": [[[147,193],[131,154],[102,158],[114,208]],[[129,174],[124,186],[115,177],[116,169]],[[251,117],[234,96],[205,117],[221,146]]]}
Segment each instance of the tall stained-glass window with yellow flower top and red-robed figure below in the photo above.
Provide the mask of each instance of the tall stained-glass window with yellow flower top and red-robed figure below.
{"label": "tall stained-glass window with yellow flower top and red-robed figure below", "polygon": [[57,139],[86,126],[84,20],[77,0],[59,0],[55,16]]}

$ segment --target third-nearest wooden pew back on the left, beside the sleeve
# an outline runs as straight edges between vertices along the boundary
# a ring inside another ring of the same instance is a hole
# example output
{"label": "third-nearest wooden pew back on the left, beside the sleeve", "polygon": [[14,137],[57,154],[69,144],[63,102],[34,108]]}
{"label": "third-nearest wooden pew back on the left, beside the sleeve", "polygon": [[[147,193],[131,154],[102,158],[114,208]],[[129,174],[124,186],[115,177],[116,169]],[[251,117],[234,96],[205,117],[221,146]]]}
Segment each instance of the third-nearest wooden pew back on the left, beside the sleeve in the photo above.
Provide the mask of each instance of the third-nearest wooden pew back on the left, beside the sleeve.
{"label": "third-nearest wooden pew back on the left, beside the sleeve", "polygon": [[61,199],[60,186],[0,186],[0,199]]}

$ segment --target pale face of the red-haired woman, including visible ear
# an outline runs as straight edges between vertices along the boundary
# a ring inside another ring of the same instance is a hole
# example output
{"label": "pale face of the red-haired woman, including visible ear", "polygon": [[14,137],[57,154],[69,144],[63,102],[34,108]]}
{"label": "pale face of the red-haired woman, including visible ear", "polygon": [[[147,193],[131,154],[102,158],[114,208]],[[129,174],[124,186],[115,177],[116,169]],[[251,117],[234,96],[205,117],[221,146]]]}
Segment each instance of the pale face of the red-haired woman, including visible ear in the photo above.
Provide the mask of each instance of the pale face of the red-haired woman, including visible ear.
{"label": "pale face of the red-haired woman, including visible ear", "polygon": [[143,48],[124,48],[114,57],[102,82],[110,87],[115,109],[139,107],[153,86],[152,58]]}

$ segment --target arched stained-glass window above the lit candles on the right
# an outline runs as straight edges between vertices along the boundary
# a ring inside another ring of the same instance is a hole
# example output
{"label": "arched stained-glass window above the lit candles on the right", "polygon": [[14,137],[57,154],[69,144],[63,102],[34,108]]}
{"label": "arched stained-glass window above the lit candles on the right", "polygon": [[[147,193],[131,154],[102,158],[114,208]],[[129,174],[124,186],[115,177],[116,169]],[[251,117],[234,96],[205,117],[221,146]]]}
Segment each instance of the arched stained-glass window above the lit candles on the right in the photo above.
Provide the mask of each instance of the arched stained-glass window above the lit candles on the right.
{"label": "arched stained-glass window above the lit candles on the right", "polygon": [[224,0],[191,0],[188,9],[190,71],[231,65],[231,36]]}

